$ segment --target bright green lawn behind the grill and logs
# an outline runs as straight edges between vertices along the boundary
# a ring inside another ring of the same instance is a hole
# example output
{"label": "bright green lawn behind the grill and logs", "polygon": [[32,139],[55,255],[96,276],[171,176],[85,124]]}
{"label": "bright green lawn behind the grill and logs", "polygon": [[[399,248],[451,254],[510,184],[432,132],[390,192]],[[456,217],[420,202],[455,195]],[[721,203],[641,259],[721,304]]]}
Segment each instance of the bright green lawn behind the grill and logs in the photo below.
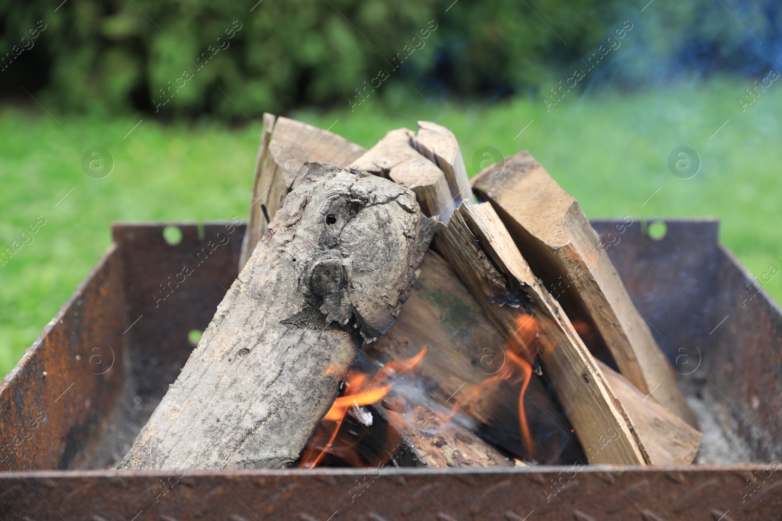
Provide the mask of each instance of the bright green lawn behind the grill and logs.
{"label": "bright green lawn behind the grill and logs", "polygon": [[[504,155],[527,149],[587,216],[719,216],[721,241],[759,276],[771,264],[782,267],[782,87],[773,85],[741,112],[737,97],[750,83],[617,91],[621,99],[600,88],[589,97],[570,93],[550,112],[540,98],[471,105],[430,97],[429,103],[389,86],[382,103],[369,98],[354,112],[289,116],[331,126],[364,147],[387,130],[414,128],[417,119],[436,121],[457,134],[471,174],[481,148]],[[141,116],[54,117],[38,105],[0,109],[0,250],[38,216],[46,219],[34,241],[0,267],[0,373],[13,367],[95,265],[109,245],[112,221],[246,217],[260,134],[254,123],[165,125],[145,117],[124,137]],[[682,145],[702,161],[688,180],[666,166]],[[105,179],[81,170],[81,155],[93,146],[108,148],[116,161]],[[773,277],[766,291],[779,300],[782,277]]]}

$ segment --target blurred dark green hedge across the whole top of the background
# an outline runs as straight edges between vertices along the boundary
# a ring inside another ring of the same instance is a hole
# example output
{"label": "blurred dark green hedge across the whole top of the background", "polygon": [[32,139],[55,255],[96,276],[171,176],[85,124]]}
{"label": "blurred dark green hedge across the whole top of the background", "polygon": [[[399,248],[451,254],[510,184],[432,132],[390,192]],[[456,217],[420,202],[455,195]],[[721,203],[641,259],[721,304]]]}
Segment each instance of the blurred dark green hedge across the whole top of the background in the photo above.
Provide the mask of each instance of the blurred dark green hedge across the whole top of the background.
{"label": "blurred dark green hedge across the whole top of the background", "polygon": [[[637,86],[684,71],[766,73],[777,66],[775,47],[759,42],[776,41],[782,28],[773,0],[652,2],[644,12],[619,0],[256,2],[80,0],[55,11],[48,0],[0,0],[0,52],[11,60],[0,65],[0,96],[30,101],[21,86],[60,109],[160,104],[156,115],[168,118],[244,119],[382,97],[387,85],[368,87],[382,70],[389,83],[412,81],[430,94],[548,92],[624,20],[635,28],[622,51],[578,88],[609,78]],[[39,20],[46,29],[16,56]]]}

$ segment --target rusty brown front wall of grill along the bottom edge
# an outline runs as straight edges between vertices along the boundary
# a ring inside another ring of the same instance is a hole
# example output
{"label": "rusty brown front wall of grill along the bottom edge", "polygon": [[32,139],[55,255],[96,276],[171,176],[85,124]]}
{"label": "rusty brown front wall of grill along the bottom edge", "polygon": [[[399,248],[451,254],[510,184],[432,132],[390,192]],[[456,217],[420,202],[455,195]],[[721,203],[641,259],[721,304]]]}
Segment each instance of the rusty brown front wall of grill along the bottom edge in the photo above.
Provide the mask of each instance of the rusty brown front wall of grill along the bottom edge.
{"label": "rusty brown front wall of grill along the bottom edge", "polygon": [[769,466],[26,473],[0,483],[2,519],[41,521],[771,521],[782,512],[782,478]]}

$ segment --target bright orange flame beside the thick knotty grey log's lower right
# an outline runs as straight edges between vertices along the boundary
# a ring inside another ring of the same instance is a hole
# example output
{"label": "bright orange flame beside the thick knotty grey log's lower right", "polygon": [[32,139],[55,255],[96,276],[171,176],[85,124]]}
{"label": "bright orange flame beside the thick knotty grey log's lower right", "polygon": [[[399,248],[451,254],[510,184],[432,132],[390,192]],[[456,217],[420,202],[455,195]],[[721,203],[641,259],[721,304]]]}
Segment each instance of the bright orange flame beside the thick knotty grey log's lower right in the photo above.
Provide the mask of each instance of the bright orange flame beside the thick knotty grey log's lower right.
{"label": "bright orange flame beside the thick knotty grey log's lower right", "polygon": [[[351,368],[347,374],[343,396],[335,399],[334,405],[328,410],[326,416],[321,420],[321,424],[317,427],[316,434],[307,443],[307,448],[304,450],[300,468],[314,469],[327,453],[335,452],[333,450],[334,441],[339,433],[339,428],[343,425],[348,410],[353,406],[371,405],[380,401],[388,394],[395,383],[393,381],[390,384],[387,382],[391,379],[398,378],[405,371],[418,365],[418,362],[421,362],[421,359],[423,359],[426,354],[426,347],[427,346],[424,346],[417,355],[404,364],[393,360],[386,362],[386,364],[375,373],[375,376],[373,376],[371,380],[369,380],[367,374],[361,373],[358,369]],[[329,367],[326,370],[326,373],[331,374],[331,372],[332,367]],[[367,380],[369,380],[369,383],[367,383]],[[329,424],[325,422],[336,422],[336,425],[334,426],[331,436],[328,438],[328,442],[317,455],[315,455],[321,439],[321,437],[318,436],[317,431],[328,430]],[[353,446],[350,448],[353,448]],[[345,455],[340,451],[340,456],[347,456],[357,462],[357,458],[354,455]],[[359,465],[356,464],[356,466]]]}

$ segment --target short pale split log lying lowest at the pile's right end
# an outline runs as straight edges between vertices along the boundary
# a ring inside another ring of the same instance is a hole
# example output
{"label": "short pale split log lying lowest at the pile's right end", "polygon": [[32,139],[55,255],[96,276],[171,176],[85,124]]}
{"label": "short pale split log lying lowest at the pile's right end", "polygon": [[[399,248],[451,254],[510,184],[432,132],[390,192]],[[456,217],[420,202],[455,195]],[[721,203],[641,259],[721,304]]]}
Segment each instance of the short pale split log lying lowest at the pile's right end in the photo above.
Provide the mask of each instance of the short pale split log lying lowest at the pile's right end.
{"label": "short pale split log lying lowest at the pile's right end", "polygon": [[[660,405],[651,394],[638,391],[624,376],[597,362],[606,381],[630,416],[634,430],[646,448],[651,465],[689,465],[698,455],[701,433]],[[590,449],[584,448],[587,458]]]}

